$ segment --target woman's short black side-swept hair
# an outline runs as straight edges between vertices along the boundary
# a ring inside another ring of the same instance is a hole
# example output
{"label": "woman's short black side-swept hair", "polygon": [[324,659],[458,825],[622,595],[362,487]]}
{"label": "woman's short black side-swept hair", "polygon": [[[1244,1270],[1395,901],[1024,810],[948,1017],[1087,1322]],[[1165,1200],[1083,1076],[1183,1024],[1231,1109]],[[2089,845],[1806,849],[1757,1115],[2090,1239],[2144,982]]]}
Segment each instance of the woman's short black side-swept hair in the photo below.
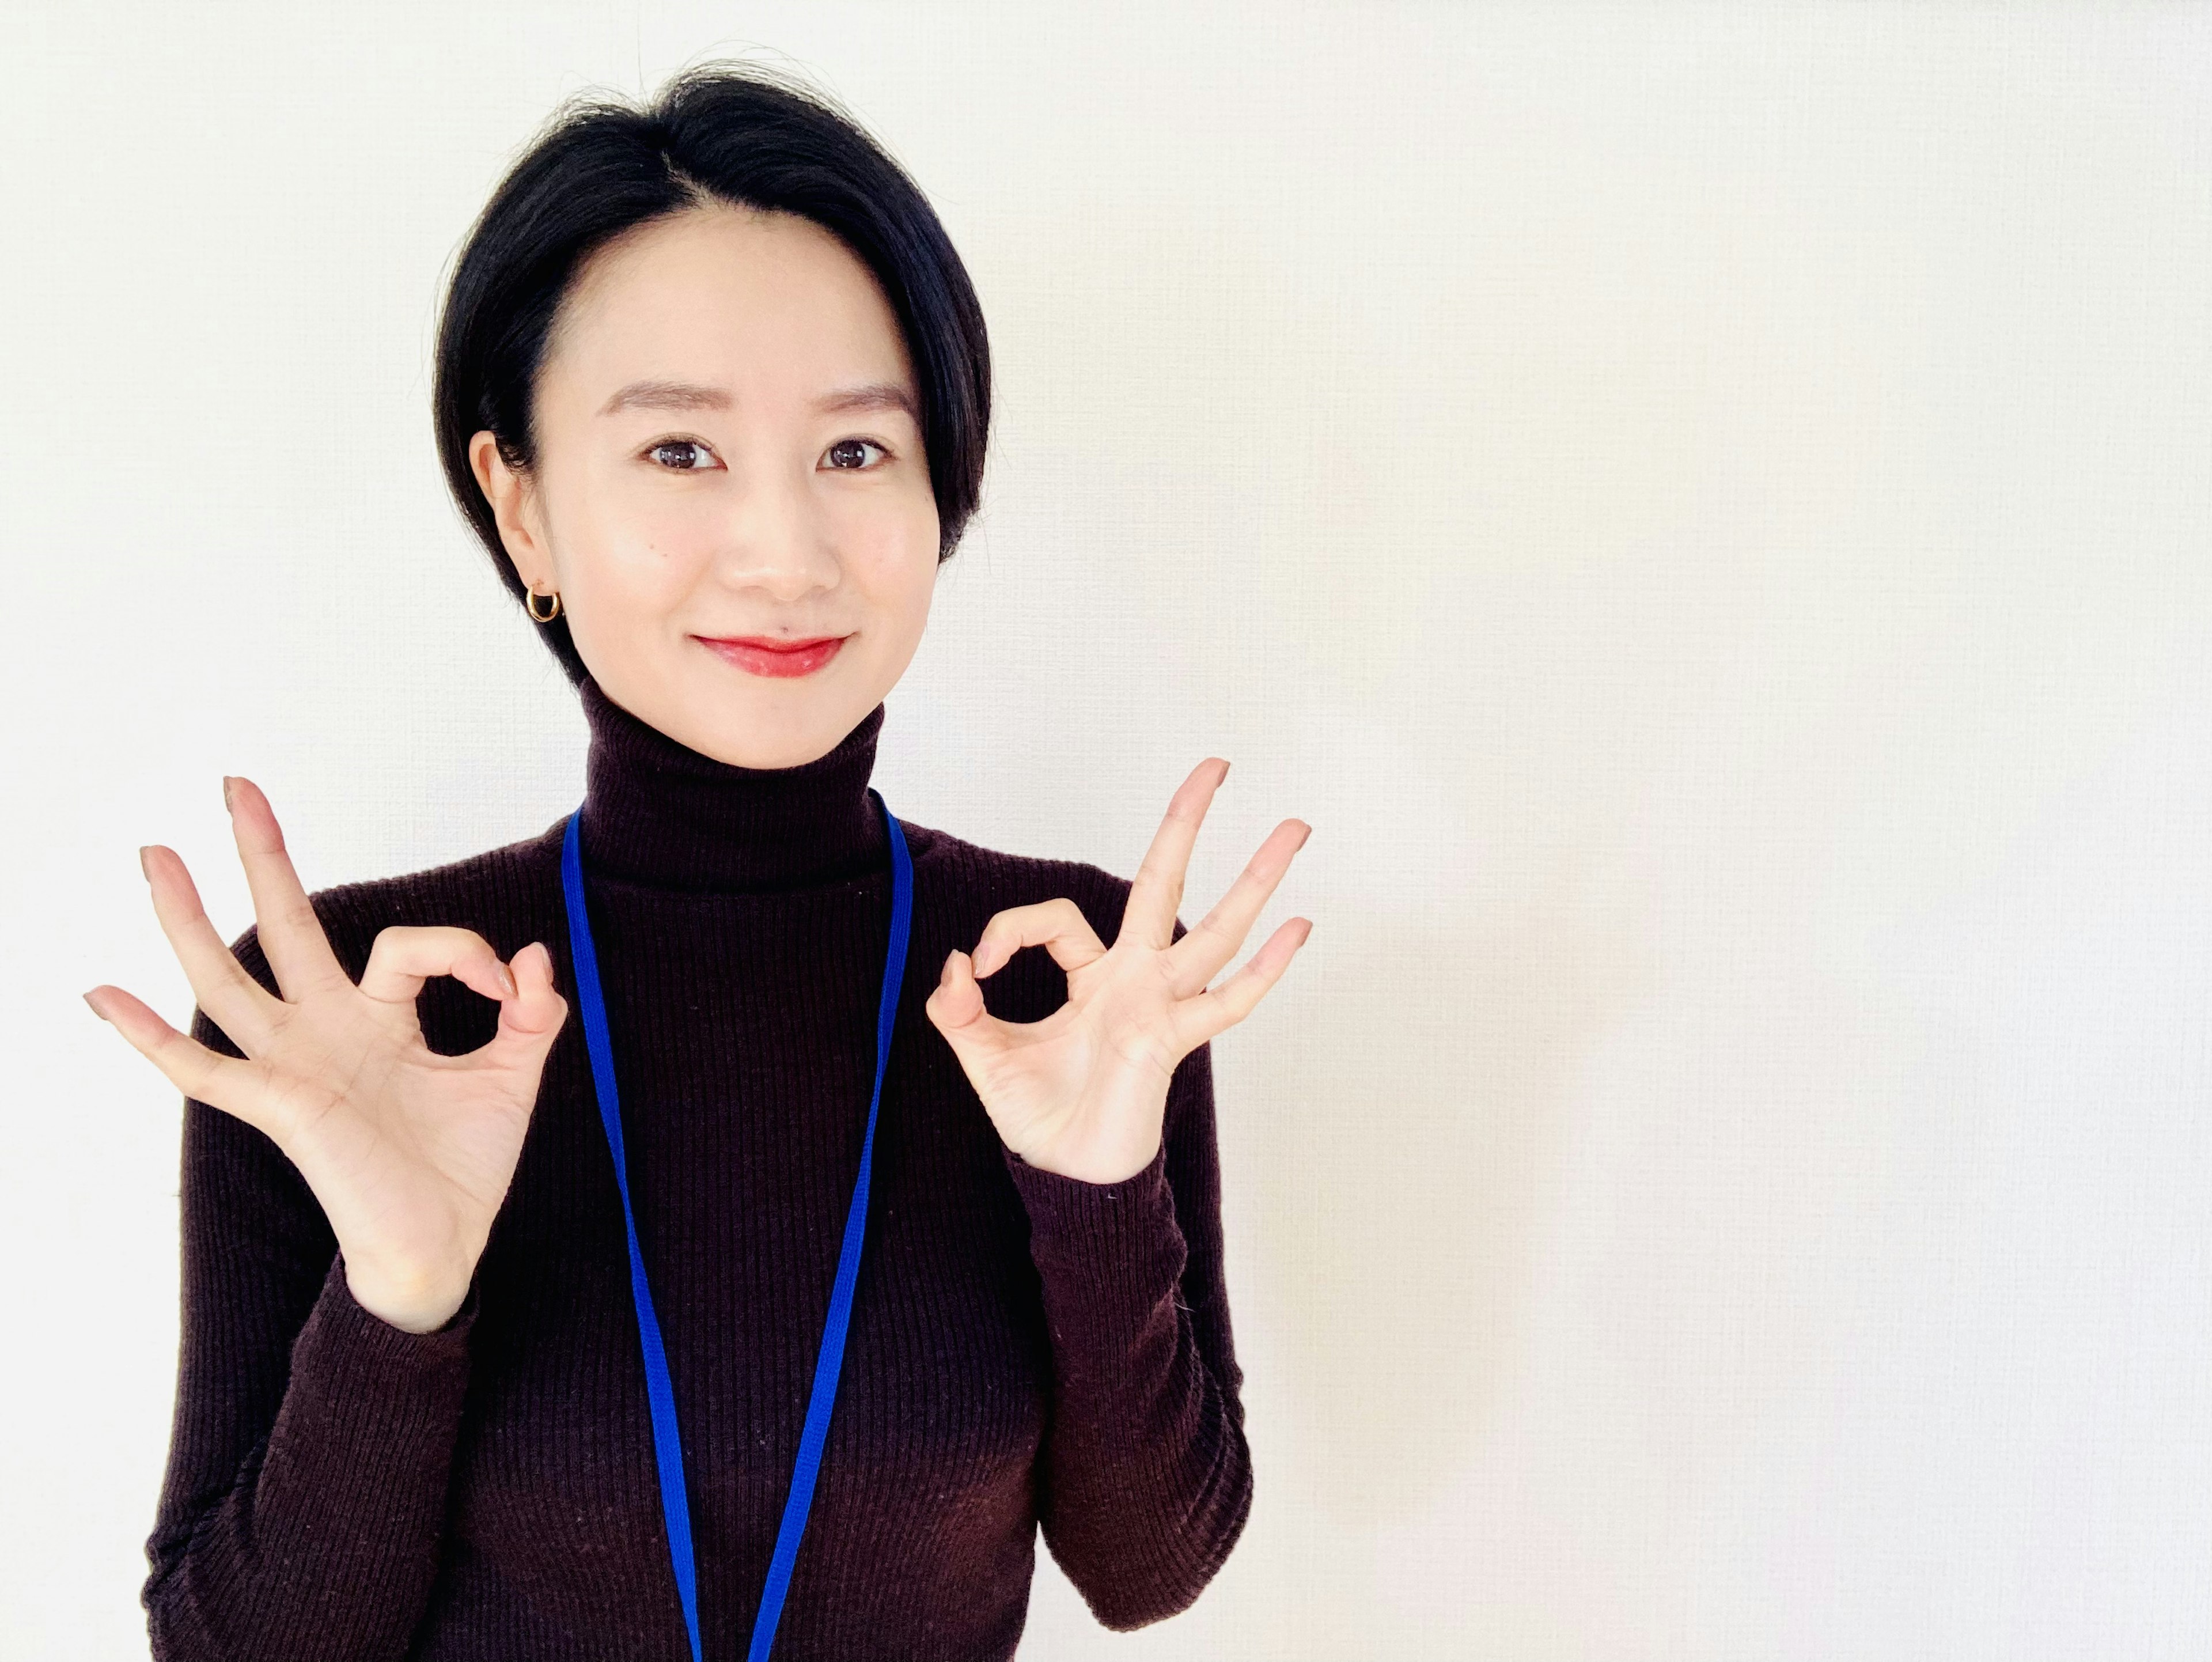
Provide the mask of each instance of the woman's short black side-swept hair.
{"label": "woman's short black side-swept hair", "polygon": [[[761,64],[712,62],[677,73],[644,106],[611,93],[562,104],[493,190],[453,263],[431,392],[438,458],[515,600],[524,584],[469,467],[469,438],[489,427],[509,467],[531,467],[538,367],[577,268],[635,226],[717,201],[812,219],[874,272],[914,363],[940,564],[973,518],[991,425],[991,345],[936,210],[832,95]],[[568,679],[588,675],[566,615],[538,633]]]}

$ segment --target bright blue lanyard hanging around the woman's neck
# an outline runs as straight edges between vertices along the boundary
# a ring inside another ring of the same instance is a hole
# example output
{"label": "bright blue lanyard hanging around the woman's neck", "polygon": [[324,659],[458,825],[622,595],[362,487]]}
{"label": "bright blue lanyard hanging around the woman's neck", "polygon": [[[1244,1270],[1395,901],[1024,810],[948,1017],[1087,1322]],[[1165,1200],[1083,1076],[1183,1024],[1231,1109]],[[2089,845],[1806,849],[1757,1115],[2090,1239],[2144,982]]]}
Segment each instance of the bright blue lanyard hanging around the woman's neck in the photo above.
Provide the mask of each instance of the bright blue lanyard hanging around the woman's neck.
{"label": "bright blue lanyard hanging around the woman's neck", "polygon": [[[836,1401],[836,1377],[845,1363],[845,1328],[852,1319],[852,1288],[860,1277],[860,1237],[867,1230],[867,1173],[876,1153],[876,1109],[883,1102],[883,1071],[891,1060],[891,1022],[898,1016],[898,983],[907,969],[907,925],[914,916],[914,863],[907,834],[883,797],[869,788],[869,799],[891,834],[891,949],[883,963],[883,1005],[876,1014],[876,1089],[867,1100],[867,1138],[860,1142],[860,1177],[852,1186],[852,1208],[845,1213],[845,1248],[836,1261],[836,1288],[830,1295],[830,1326],[814,1361],[814,1394],[807,1399],[807,1425],[799,1438],[799,1467],[783,1503],[783,1527],[776,1529],[776,1554],[768,1562],[768,1587],[761,1589],[761,1613],[752,1622],[748,1662],[768,1662],[776,1638],[783,1593],[799,1560],[799,1536],[807,1527],[814,1503],[814,1478],[821,1474],[823,1441],[830,1436],[830,1407]],[[584,910],[584,861],[577,850],[577,823],[584,810],[568,814],[562,839],[560,876],[568,905],[568,952],[575,958],[575,989],[584,1003],[584,1047],[591,1051],[591,1082],[599,1095],[599,1122],[606,1126],[606,1149],[615,1155],[615,1186],[622,1191],[622,1226],[630,1237],[630,1297],[637,1301],[637,1341],[646,1352],[646,1401],[653,1407],[653,1461],[661,1472],[661,1516],[668,1520],[668,1558],[677,1576],[677,1598],[684,1600],[684,1629],[690,1633],[692,1662],[703,1662],[699,1644],[699,1571],[692,1562],[690,1500],[684,1492],[684,1443],[677,1441],[677,1394],[668,1379],[668,1352],[661,1348],[661,1323],[653,1315],[653,1290],[646,1286],[646,1261],[637,1250],[637,1215],[630,1211],[630,1173],[622,1157],[622,1107],[615,1100],[615,1058],[606,1038],[606,1003],[599,998],[599,958],[591,945],[591,918]]]}

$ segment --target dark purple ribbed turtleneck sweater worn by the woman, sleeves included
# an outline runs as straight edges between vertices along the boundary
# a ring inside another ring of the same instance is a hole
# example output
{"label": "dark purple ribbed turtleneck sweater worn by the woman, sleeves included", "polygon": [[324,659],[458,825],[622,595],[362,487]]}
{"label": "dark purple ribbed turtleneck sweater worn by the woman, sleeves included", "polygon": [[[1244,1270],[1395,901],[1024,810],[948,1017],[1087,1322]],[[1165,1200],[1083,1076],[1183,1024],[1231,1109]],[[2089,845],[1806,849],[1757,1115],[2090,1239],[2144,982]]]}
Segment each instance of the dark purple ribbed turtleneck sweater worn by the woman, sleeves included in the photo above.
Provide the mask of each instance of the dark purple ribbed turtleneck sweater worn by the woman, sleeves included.
{"label": "dark purple ribbed turtleneck sweater worn by the woman, sleeves included", "polygon": [[[885,706],[825,757],[754,770],[591,682],[582,695],[586,887],[719,1662],[752,1633],[867,1129],[891,912],[867,797]],[[1066,894],[1110,943],[1128,881],[900,823],[911,945],[779,1662],[1011,1658],[1040,1525],[1102,1622],[1157,1622],[1199,1596],[1252,1505],[1208,1047],[1175,1073],[1159,1157],[1088,1184],[1006,1151],[922,1014],[993,912]],[[314,896],[356,976],[385,925],[451,923],[502,956],[544,941],[571,1000],[447,1328],[403,1332],[354,1303],[292,1164],[186,1102],[184,1339],[144,1593],[157,1658],[688,1658],[562,830]],[[276,987],[252,929],[234,952]],[[1029,949],[984,996],[1037,1020],[1066,976]],[[449,978],[420,1011],[440,1053],[498,1022]],[[192,1031],[237,1056],[204,1014]]]}

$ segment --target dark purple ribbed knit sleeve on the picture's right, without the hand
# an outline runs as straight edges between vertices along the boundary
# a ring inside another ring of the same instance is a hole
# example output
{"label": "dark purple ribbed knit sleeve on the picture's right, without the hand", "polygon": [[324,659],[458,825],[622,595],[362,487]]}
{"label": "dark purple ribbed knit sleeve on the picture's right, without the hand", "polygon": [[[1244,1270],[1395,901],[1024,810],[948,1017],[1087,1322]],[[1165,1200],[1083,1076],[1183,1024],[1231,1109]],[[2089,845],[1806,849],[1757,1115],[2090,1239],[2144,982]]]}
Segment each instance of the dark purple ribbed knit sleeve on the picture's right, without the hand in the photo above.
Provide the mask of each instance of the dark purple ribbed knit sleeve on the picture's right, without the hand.
{"label": "dark purple ribbed knit sleeve on the picture's right, without the hand", "polygon": [[1197,1600],[1252,1509],[1212,1047],[1177,1067],[1159,1153],[1137,1175],[1088,1184],[1011,1151],[1006,1168],[1053,1339],[1044,1540],[1099,1622],[1159,1622]]}

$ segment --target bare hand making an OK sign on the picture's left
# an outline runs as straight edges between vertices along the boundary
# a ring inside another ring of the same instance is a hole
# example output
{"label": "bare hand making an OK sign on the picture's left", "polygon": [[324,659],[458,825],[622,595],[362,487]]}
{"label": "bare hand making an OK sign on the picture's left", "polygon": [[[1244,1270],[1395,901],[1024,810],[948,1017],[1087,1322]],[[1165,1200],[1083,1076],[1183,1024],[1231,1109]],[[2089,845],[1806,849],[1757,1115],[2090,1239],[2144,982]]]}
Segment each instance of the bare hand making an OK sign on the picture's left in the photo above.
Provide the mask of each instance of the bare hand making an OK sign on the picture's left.
{"label": "bare hand making an OK sign on the picture's left", "polygon": [[[153,910],[192,996],[246,1051],[223,1056],[122,987],[84,1000],[170,1084],[268,1133],[323,1204],[363,1310],[409,1332],[442,1328],[469,1295],[522,1155],[546,1053],[568,1018],[553,954],[533,941],[500,960],[473,929],[394,925],[356,987],[330,949],[268,797],[226,779],[272,996],[232,956],[168,848],[139,859]],[[500,1031],[467,1056],[422,1042],[416,994],[453,976],[500,1000]]]}

